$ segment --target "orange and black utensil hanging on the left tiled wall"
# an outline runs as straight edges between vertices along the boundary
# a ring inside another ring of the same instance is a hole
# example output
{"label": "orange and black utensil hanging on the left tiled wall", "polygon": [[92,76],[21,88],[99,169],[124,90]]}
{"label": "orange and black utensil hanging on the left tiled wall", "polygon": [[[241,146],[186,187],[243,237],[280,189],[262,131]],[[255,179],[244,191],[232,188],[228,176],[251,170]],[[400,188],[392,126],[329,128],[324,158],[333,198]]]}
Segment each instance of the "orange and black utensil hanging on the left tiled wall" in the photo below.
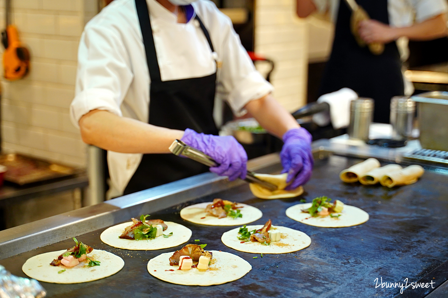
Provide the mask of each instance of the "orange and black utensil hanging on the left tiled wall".
{"label": "orange and black utensil hanging on the left tiled wall", "polygon": [[17,28],[11,25],[11,0],[5,3],[6,28],[1,41],[3,53],[4,78],[9,81],[23,79],[30,71],[30,51],[19,40]]}

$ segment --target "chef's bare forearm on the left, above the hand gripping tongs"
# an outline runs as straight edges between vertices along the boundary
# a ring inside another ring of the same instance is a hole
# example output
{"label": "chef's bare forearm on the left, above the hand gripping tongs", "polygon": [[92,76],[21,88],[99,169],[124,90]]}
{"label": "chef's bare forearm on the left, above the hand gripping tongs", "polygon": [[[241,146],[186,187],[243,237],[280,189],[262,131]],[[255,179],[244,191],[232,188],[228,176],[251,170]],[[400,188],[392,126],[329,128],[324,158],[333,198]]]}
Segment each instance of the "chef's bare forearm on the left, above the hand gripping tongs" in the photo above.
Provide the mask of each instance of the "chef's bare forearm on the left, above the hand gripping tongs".
{"label": "chef's bare forearm on the left, above the hand gripping tongs", "polygon": [[85,143],[121,153],[169,153],[171,143],[184,134],[102,110],[82,116],[79,126]]}

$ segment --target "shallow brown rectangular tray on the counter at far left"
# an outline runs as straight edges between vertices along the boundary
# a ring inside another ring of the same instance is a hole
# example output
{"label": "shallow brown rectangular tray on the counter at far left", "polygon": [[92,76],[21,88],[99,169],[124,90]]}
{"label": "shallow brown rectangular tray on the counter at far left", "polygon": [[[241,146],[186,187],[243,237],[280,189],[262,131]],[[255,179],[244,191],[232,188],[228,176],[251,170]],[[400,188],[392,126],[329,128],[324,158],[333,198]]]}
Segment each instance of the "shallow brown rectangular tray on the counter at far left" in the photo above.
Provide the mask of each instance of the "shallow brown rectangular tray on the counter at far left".
{"label": "shallow brown rectangular tray on the counter at far left", "polygon": [[71,176],[78,172],[75,168],[19,154],[0,155],[0,164],[8,168],[4,180],[18,185]]}

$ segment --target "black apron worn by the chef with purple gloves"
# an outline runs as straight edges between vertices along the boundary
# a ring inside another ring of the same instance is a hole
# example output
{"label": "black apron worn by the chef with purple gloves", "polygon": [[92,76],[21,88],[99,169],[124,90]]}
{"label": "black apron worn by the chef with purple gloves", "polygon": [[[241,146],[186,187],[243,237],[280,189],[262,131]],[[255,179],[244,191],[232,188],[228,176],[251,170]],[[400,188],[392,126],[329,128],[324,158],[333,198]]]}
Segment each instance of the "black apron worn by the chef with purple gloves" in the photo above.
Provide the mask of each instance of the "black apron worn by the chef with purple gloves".
{"label": "black apron worn by the chef with purple gloves", "polygon": [[[135,4],[151,77],[148,123],[177,130],[190,128],[198,133],[217,135],[218,129],[213,120],[216,73],[201,78],[162,81],[146,0],[135,0]],[[198,16],[196,20],[213,52],[207,29]],[[173,154],[144,154],[124,194],[135,193],[207,171],[207,166]]]}

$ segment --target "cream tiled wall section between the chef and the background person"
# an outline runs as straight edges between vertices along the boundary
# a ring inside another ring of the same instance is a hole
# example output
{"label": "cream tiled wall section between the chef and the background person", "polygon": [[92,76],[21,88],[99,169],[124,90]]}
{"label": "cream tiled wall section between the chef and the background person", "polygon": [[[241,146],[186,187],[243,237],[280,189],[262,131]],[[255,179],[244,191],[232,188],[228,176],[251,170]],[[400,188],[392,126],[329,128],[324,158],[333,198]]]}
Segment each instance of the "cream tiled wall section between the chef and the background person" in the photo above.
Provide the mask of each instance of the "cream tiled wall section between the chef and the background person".
{"label": "cream tiled wall section between the chef and the background person", "polygon": [[[276,63],[273,95],[290,112],[306,104],[308,73],[308,25],[295,9],[295,0],[255,2],[255,52]],[[266,72],[266,64],[257,68]]]}

